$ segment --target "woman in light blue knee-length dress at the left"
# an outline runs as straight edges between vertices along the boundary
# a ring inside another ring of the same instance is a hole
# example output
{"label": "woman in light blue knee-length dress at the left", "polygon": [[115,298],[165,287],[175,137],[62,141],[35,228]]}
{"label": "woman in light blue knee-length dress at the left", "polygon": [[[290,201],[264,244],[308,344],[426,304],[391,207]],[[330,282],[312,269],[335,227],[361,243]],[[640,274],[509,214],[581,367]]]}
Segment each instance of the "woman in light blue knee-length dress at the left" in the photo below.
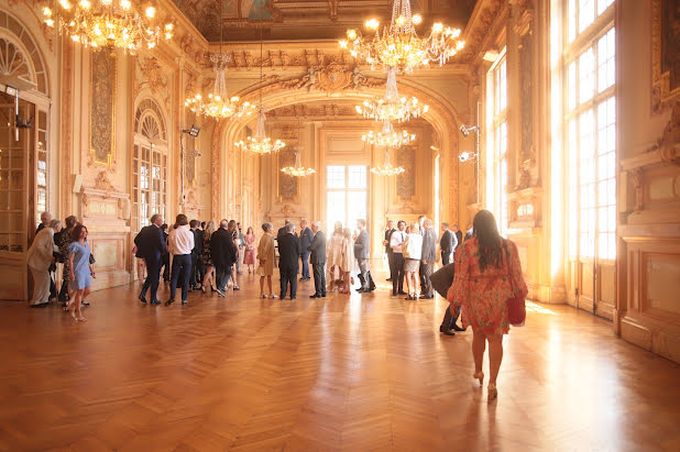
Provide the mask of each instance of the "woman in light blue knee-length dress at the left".
{"label": "woman in light blue knee-length dress at the left", "polygon": [[74,291],[74,298],[68,302],[68,311],[76,321],[84,322],[80,305],[83,298],[90,293],[90,286],[95,277],[95,269],[90,264],[90,247],[87,244],[87,228],[76,224],[72,232],[73,242],[68,246],[68,265],[70,268],[69,288]]}

